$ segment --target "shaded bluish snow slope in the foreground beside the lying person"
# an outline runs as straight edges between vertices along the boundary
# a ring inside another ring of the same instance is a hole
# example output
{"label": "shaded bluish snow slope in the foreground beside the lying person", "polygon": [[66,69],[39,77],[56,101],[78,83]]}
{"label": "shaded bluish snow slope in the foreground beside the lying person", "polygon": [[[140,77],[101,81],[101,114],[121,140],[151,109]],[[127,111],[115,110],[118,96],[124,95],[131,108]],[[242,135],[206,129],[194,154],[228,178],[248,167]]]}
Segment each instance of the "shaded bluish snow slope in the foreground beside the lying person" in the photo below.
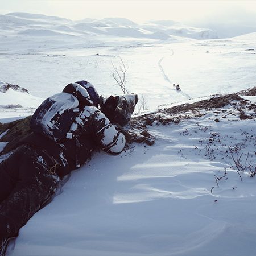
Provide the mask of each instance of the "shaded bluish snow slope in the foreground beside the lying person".
{"label": "shaded bluish snow slope in the foreground beside the lying person", "polygon": [[255,166],[255,118],[224,112],[220,122],[208,111],[153,125],[151,147],[94,154],[20,230],[8,255],[253,256],[255,177],[230,167],[241,154],[245,165],[247,153]]}

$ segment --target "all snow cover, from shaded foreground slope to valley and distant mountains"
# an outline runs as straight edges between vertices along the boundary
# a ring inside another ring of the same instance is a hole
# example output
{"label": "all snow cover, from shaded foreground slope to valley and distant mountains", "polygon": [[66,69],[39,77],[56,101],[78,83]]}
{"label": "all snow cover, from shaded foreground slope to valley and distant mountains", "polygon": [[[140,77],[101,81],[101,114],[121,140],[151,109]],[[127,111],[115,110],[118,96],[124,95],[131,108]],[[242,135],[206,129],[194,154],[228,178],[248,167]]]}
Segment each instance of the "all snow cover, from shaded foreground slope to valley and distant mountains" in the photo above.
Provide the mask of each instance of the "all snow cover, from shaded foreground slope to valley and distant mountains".
{"label": "all snow cover, from shaded foreground slope to valley and distant mountains", "polygon": [[[148,112],[255,86],[255,33],[196,40],[200,29],[180,27],[174,34],[168,22],[138,28],[129,20],[72,22],[23,13],[0,20],[0,80],[41,99],[79,80],[92,82],[99,94],[121,94],[110,76],[119,56],[129,66],[127,90],[144,96]],[[27,107],[1,109],[0,122],[31,114],[40,104],[10,93],[0,105],[19,98]],[[255,103],[255,97],[244,98]],[[215,115],[154,124],[148,127],[153,146],[95,153],[20,229],[7,256],[254,256],[256,180],[230,166],[232,150],[241,145],[242,163],[248,156],[255,166],[255,119],[228,114],[214,122]]]}

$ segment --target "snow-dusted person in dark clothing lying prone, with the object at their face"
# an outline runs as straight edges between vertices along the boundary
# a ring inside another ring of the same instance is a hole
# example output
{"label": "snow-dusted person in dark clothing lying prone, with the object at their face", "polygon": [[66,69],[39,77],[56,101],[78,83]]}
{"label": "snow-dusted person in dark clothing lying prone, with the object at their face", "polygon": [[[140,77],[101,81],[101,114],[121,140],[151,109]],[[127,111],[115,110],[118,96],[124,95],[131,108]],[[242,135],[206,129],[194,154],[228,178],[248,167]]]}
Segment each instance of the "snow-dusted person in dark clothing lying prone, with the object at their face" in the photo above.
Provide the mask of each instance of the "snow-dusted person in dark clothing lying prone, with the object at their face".
{"label": "snow-dusted person in dark clothing lying prone, with the object at their face", "polygon": [[0,163],[1,256],[9,238],[53,198],[62,177],[97,147],[110,154],[123,150],[126,139],[118,125],[129,122],[137,102],[136,94],[100,98],[92,84],[79,81],[36,109],[32,133]]}

